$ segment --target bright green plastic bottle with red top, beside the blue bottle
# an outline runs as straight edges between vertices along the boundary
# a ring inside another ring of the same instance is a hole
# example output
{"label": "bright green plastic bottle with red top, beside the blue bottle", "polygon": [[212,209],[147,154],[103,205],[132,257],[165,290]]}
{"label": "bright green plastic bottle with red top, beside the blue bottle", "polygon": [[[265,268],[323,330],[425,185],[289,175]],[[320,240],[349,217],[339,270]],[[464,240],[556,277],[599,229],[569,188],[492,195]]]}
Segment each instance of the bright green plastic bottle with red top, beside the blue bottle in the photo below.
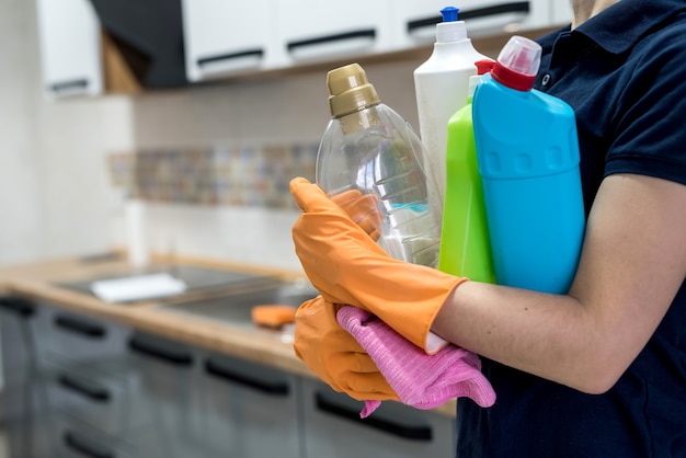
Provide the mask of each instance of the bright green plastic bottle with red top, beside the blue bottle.
{"label": "bright green plastic bottle with red top, beside the blue bottle", "polygon": [[448,122],[446,188],[438,270],[477,282],[495,283],[491,242],[477,162],[471,121],[471,101],[480,75],[493,66],[477,62],[479,76],[471,77],[467,105]]}

